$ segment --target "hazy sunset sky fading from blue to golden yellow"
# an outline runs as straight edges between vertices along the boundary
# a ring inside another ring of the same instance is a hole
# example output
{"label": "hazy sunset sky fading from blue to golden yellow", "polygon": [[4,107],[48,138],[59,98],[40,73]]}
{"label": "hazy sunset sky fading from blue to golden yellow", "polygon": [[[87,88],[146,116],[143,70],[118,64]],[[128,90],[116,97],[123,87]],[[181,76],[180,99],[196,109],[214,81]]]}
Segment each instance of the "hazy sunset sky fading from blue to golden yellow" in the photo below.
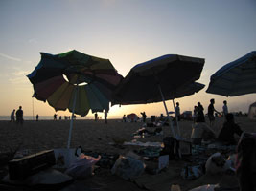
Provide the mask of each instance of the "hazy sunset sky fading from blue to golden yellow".
{"label": "hazy sunset sky fading from blue to golden yellow", "polygon": [[[207,94],[210,76],[223,65],[256,50],[255,0],[0,0],[0,116],[22,106],[25,116],[53,116],[55,110],[32,98],[30,74],[40,52],[71,50],[107,58],[126,76],[136,64],[164,54],[205,59],[198,82],[205,88],[175,99],[181,112],[215,98],[221,111],[247,112],[256,94]],[[169,111],[173,102],[167,101]],[[113,106],[108,117],[145,111],[165,113],[162,102]],[[58,112],[58,115],[70,115]],[[100,114],[101,115],[101,114]],[[88,117],[91,116],[91,113]]]}

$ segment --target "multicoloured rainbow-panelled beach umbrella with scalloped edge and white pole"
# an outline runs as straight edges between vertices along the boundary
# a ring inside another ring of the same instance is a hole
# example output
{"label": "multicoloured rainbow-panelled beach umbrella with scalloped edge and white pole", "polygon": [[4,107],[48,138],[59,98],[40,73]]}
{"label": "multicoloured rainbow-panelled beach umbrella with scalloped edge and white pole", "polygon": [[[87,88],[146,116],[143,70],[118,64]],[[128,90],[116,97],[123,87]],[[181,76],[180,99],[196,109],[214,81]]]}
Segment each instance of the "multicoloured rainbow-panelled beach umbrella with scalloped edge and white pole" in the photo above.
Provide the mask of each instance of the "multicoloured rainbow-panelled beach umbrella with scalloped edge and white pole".
{"label": "multicoloured rainbow-panelled beach umbrella with scalloped edge and white pole", "polygon": [[108,59],[76,50],[60,53],[40,53],[41,60],[27,75],[33,84],[35,98],[47,101],[56,111],[72,112],[68,148],[74,114],[84,117],[89,110],[109,110],[112,91],[123,78]]}

